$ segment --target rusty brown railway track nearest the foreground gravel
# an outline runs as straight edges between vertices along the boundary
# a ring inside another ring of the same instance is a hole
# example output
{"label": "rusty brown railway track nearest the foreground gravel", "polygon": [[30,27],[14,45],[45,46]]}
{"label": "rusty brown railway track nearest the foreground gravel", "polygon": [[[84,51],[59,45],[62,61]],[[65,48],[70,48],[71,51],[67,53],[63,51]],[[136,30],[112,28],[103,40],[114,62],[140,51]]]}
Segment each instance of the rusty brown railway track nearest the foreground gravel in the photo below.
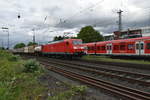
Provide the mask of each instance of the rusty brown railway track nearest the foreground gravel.
{"label": "rusty brown railway track nearest the foreground gravel", "polygon": [[117,96],[124,97],[128,100],[150,100],[150,94],[147,92],[131,89],[118,84],[106,82],[100,79],[93,78],[91,76],[85,76],[69,70],[64,70],[56,66],[50,65],[48,62],[41,62],[50,71],[59,73],[63,76],[81,81],[87,85],[91,85],[100,89],[109,91],[110,93],[116,94]]}

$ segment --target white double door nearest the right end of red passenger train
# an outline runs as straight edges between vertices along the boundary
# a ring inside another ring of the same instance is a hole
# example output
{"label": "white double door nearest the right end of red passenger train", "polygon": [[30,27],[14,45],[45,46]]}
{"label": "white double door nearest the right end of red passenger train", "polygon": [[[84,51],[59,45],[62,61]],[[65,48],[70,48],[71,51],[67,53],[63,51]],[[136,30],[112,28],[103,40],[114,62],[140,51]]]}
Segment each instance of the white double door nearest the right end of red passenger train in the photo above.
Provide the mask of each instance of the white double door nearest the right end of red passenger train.
{"label": "white double door nearest the right end of red passenger train", "polygon": [[143,55],[144,54],[144,42],[143,41],[138,41],[135,43],[135,50],[137,55]]}

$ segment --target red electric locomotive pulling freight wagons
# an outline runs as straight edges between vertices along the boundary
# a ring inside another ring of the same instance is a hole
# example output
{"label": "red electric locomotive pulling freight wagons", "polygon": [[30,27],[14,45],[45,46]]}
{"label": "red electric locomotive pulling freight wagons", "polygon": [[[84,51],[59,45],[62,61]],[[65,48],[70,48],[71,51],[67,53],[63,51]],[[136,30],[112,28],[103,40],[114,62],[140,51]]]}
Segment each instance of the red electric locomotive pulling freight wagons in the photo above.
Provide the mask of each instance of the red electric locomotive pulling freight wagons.
{"label": "red electric locomotive pulling freight wagons", "polygon": [[82,45],[81,39],[65,39],[43,45],[42,54],[58,56],[82,56],[85,54],[85,46]]}

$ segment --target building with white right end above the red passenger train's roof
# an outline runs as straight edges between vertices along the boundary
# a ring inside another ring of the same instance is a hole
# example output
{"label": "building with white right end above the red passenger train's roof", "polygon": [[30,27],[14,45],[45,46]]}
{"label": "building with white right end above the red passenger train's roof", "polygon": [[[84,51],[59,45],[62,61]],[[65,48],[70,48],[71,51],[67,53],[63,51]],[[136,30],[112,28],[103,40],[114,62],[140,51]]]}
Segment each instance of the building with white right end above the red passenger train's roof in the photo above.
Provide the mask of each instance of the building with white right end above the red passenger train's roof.
{"label": "building with white right end above the red passenger train's roof", "polygon": [[126,38],[136,38],[136,37],[145,37],[150,36],[150,27],[142,28],[131,28],[128,30],[123,30],[121,32],[114,32],[114,39],[126,39]]}

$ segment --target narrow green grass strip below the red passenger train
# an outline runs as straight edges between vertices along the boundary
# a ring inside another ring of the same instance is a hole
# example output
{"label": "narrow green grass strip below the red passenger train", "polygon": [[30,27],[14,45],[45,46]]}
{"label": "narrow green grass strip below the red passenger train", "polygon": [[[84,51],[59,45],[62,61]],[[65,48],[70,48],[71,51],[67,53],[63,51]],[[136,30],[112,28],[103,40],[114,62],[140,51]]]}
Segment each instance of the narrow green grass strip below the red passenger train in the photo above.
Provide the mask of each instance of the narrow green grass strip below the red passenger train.
{"label": "narrow green grass strip below the red passenger train", "polygon": [[150,64],[149,61],[144,60],[132,60],[132,59],[113,59],[107,56],[95,56],[95,55],[86,55],[82,59],[85,60],[95,60],[95,61],[105,61],[105,62],[120,62],[120,63],[133,63],[133,64]]}

